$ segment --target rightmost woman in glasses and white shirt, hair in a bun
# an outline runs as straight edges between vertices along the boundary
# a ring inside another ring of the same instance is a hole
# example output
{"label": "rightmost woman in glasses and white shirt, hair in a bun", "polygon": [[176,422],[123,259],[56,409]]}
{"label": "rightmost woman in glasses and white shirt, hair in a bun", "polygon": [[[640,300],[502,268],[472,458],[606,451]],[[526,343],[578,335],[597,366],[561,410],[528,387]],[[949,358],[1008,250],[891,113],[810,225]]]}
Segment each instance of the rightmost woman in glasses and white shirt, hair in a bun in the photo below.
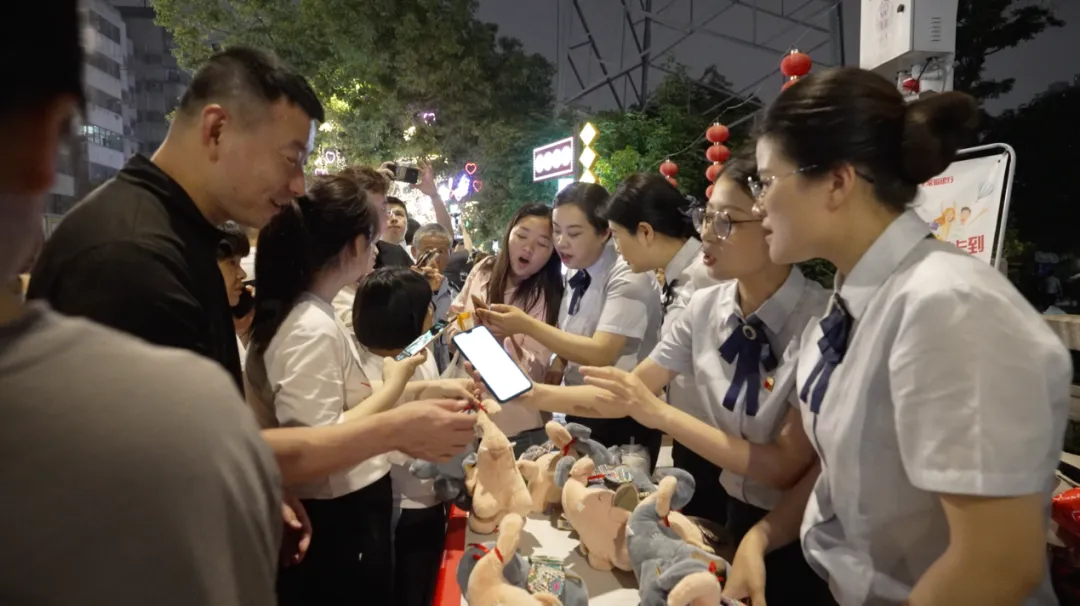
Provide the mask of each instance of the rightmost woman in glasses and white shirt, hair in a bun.
{"label": "rightmost woman in glasses and white shirt, hair in a bun", "polygon": [[997,270],[908,208],[976,115],[962,93],[905,104],[853,68],[809,76],[766,110],[769,254],[822,257],[838,275],[798,368],[820,477],[743,541],[732,582],[759,587],[760,553],[801,531],[842,605],[1056,604],[1047,511],[1068,352]]}

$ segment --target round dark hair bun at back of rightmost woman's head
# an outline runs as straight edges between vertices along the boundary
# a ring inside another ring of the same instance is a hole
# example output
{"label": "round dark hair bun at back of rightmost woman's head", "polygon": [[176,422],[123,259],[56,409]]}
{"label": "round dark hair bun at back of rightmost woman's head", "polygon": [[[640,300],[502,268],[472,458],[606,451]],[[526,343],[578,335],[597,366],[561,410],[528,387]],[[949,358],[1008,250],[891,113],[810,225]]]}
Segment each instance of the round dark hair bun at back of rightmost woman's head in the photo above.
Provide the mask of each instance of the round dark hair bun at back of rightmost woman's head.
{"label": "round dark hair bun at back of rightmost woman's head", "polygon": [[930,95],[908,105],[901,144],[904,178],[922,184],[942,174],[977,122],[978,106],[966,93]]}

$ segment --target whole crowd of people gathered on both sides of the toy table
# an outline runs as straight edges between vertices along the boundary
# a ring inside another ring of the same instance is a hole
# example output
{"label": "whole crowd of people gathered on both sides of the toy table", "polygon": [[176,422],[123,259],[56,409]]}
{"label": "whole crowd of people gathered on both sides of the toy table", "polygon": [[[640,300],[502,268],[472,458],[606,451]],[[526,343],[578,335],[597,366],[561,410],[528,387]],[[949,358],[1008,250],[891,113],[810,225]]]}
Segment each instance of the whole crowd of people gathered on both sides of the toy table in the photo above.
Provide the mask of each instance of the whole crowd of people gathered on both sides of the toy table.
{"label": "whole crowd of people gathered on both sides of the toy table", "polygon": [[234,48],[42,242],[83,55],[75,0],[28,10],[44,50],[0,67],[0,278],[32,267],[0,295],[0,602],[431,604],[447,509],[408,468],[460,454],[485,394],[460,327],[397,358],[468,311],[535,383],[495,418],[516,453],[555,413],[653,464],[673,439],[686,512],[739,541],[734,597],[1056,603],[1068,352],[909,208],[971,97],[824,70],[704,204],[660,175],[573,184],[477,258],[430,166],[413,229],[392,165],[306,177],[320,99]]}

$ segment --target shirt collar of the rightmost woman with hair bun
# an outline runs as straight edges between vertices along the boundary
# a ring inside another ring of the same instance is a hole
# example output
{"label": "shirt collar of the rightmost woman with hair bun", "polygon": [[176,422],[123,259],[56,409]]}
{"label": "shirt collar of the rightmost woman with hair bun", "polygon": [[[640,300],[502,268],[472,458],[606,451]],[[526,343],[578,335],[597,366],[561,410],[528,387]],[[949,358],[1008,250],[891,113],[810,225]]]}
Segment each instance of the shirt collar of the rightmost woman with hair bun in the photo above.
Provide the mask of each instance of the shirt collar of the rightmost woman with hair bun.
{"label": "shirt collar of the rightmost woman with hair bun", "polygon": [[878,288],[929,234],[927,221],[919,218],[915,211],[907,211],[896,217],[863,253],[851,275],[836,274],[835,288],[852,318],[859,320]]}

